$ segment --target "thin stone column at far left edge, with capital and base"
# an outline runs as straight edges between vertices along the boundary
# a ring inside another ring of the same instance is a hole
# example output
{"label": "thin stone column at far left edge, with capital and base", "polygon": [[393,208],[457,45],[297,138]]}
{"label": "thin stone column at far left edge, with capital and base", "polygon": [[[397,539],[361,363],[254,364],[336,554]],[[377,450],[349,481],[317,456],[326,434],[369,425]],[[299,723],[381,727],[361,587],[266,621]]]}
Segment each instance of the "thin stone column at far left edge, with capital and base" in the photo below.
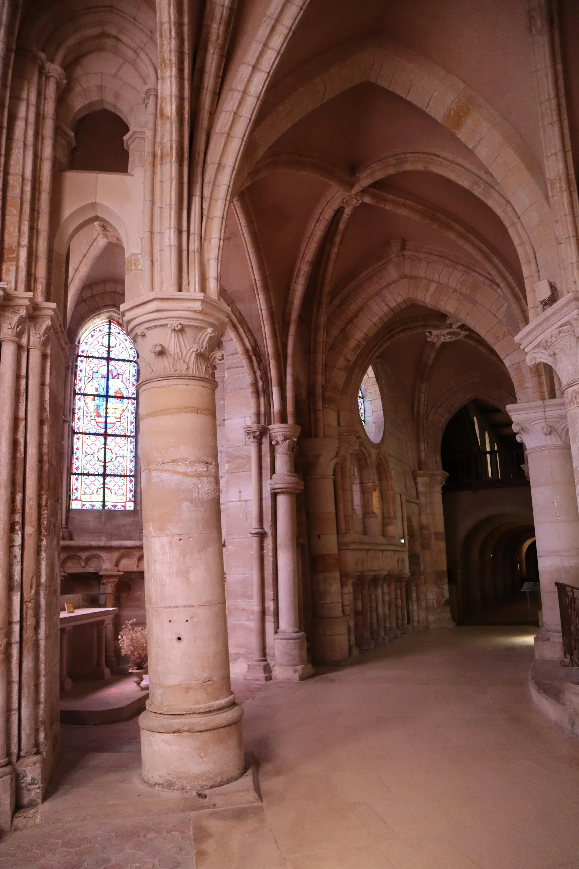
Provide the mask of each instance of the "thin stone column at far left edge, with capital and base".
{"label": "thin stone column at far left edge, with capital and base", "polygon": [[[2,293],[0,293],[1,298]],[[14,767],[8,746],[8,679],[10,620],[10,521],[16,369],[20,335],[26,322],[23,308],[0,310],[0,829],[10,830],[16,799]]]}

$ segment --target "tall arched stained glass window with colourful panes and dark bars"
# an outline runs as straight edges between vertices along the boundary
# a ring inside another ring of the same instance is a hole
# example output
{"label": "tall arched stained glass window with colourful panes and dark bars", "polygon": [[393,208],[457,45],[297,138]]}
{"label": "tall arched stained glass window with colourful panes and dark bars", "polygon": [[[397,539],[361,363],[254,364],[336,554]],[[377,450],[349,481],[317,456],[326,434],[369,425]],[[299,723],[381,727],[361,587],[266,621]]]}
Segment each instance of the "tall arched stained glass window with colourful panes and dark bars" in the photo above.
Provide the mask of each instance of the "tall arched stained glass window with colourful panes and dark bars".
{"label": "tall arched stained glass window with colourful panes and dark bars", "polygon": [[114,320],[82,335],[76,361],[70,507],[135,508],[136,353]]}

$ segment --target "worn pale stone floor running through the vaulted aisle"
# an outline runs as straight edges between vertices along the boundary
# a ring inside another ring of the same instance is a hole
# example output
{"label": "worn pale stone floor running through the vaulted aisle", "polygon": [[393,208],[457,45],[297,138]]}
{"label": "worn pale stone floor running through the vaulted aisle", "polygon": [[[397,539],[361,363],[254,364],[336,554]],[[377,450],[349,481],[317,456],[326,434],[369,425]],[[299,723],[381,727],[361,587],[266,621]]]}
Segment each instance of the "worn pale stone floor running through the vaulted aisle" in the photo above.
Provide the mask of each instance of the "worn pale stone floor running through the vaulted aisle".
{"label": "worn pale stone floor running through the vaulted aisle", "polygon": [[[579,869],[579,740],[532,705],[532,657],[529,628],[461,627],[240,686],[263,806],[48,814],[0,869]],[[55,798],[106,808],[137,774],[136,721],[63,730]]]}

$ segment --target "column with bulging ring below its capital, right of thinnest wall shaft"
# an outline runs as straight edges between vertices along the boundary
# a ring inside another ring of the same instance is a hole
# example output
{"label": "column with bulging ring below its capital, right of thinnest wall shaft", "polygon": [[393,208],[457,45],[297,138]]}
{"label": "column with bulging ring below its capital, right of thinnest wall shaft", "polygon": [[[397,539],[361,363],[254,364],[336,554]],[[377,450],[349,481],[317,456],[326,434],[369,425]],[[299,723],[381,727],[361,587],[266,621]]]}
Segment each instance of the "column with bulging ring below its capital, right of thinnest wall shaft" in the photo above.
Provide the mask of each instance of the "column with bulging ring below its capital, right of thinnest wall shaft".
{"label": "column with bulging ring below its capital, right of thinnest wall shaft", "polygon": [[306,657],[306,634],[299,630],[298,555],[295,496],[304,488],[293,471],[299,426],[282,422],[269,427],[275,450],[275,473],[269,487],[276,495],[279,627],[273,637],[273,678],[301,681],[313,675]]}

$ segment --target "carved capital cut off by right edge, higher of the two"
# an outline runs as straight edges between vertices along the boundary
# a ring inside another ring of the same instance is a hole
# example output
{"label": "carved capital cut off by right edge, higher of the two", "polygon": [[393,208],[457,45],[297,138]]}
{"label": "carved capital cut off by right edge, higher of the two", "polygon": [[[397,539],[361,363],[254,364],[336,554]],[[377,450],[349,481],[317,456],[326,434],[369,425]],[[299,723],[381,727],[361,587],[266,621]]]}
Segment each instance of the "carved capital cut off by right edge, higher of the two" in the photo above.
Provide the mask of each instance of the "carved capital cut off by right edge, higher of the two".
{"label": "carved capital cut off by right edge, higher of the two", "polygon": [[546,362],[555,368],[563,392],[579,382],[579,292],[547,308],[516,335],[527,364]]}

